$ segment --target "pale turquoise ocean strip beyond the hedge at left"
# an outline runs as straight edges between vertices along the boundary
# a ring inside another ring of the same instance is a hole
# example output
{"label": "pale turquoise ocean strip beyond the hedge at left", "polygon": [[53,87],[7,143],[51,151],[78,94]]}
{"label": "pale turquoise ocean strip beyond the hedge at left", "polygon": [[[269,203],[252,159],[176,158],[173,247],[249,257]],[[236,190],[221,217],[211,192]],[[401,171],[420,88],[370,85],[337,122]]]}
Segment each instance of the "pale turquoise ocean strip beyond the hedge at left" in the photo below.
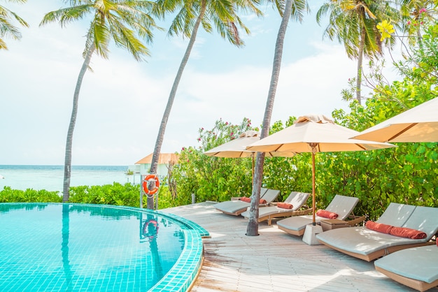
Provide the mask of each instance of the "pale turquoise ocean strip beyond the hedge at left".
{"label": "pale turquoise ocean strip beyond the hedge at left", "polygon": [[[126,175],[128,166],[71,166],[71,187],[100,186],[119,182],[138,183],[139,175]],[[4,177],[3,179],[1,177]],[[1,166],[0,191],[11,189],[45,189],[62,192],[64,166]]]}

